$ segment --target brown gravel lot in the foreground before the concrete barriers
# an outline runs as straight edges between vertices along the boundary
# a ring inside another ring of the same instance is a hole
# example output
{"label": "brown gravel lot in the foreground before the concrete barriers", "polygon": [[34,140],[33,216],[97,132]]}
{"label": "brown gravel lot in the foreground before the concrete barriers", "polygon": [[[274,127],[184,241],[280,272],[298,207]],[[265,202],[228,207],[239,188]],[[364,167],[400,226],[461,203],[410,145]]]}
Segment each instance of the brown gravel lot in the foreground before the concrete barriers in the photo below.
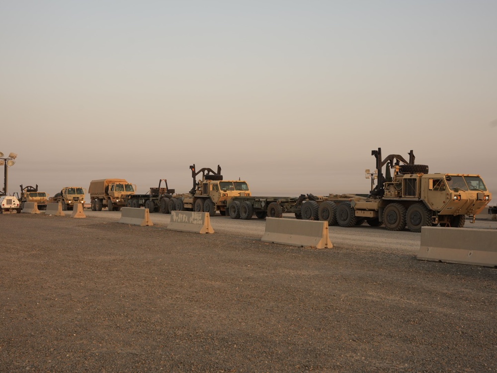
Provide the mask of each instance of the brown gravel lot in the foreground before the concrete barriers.
{"label": "brown gravel lot in the foreground before the concrete barriers", "polygon": [[0,372],[497,370],[497,269],[372,229],[327,250],[95,216],[0,229]]}

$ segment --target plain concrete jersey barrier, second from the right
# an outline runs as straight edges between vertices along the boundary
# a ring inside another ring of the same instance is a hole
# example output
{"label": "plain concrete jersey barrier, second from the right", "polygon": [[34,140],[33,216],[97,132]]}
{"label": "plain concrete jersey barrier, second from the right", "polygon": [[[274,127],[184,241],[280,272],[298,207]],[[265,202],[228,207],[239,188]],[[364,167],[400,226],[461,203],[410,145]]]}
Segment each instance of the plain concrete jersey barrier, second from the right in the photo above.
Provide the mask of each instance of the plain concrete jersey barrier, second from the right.
{"label": "plain concrete jersey barrier, second from the right", "polygon": [[261,240],[275,244],[311,246],[318,249],[333,247],[327,221],[266,218],[266,229]]}

